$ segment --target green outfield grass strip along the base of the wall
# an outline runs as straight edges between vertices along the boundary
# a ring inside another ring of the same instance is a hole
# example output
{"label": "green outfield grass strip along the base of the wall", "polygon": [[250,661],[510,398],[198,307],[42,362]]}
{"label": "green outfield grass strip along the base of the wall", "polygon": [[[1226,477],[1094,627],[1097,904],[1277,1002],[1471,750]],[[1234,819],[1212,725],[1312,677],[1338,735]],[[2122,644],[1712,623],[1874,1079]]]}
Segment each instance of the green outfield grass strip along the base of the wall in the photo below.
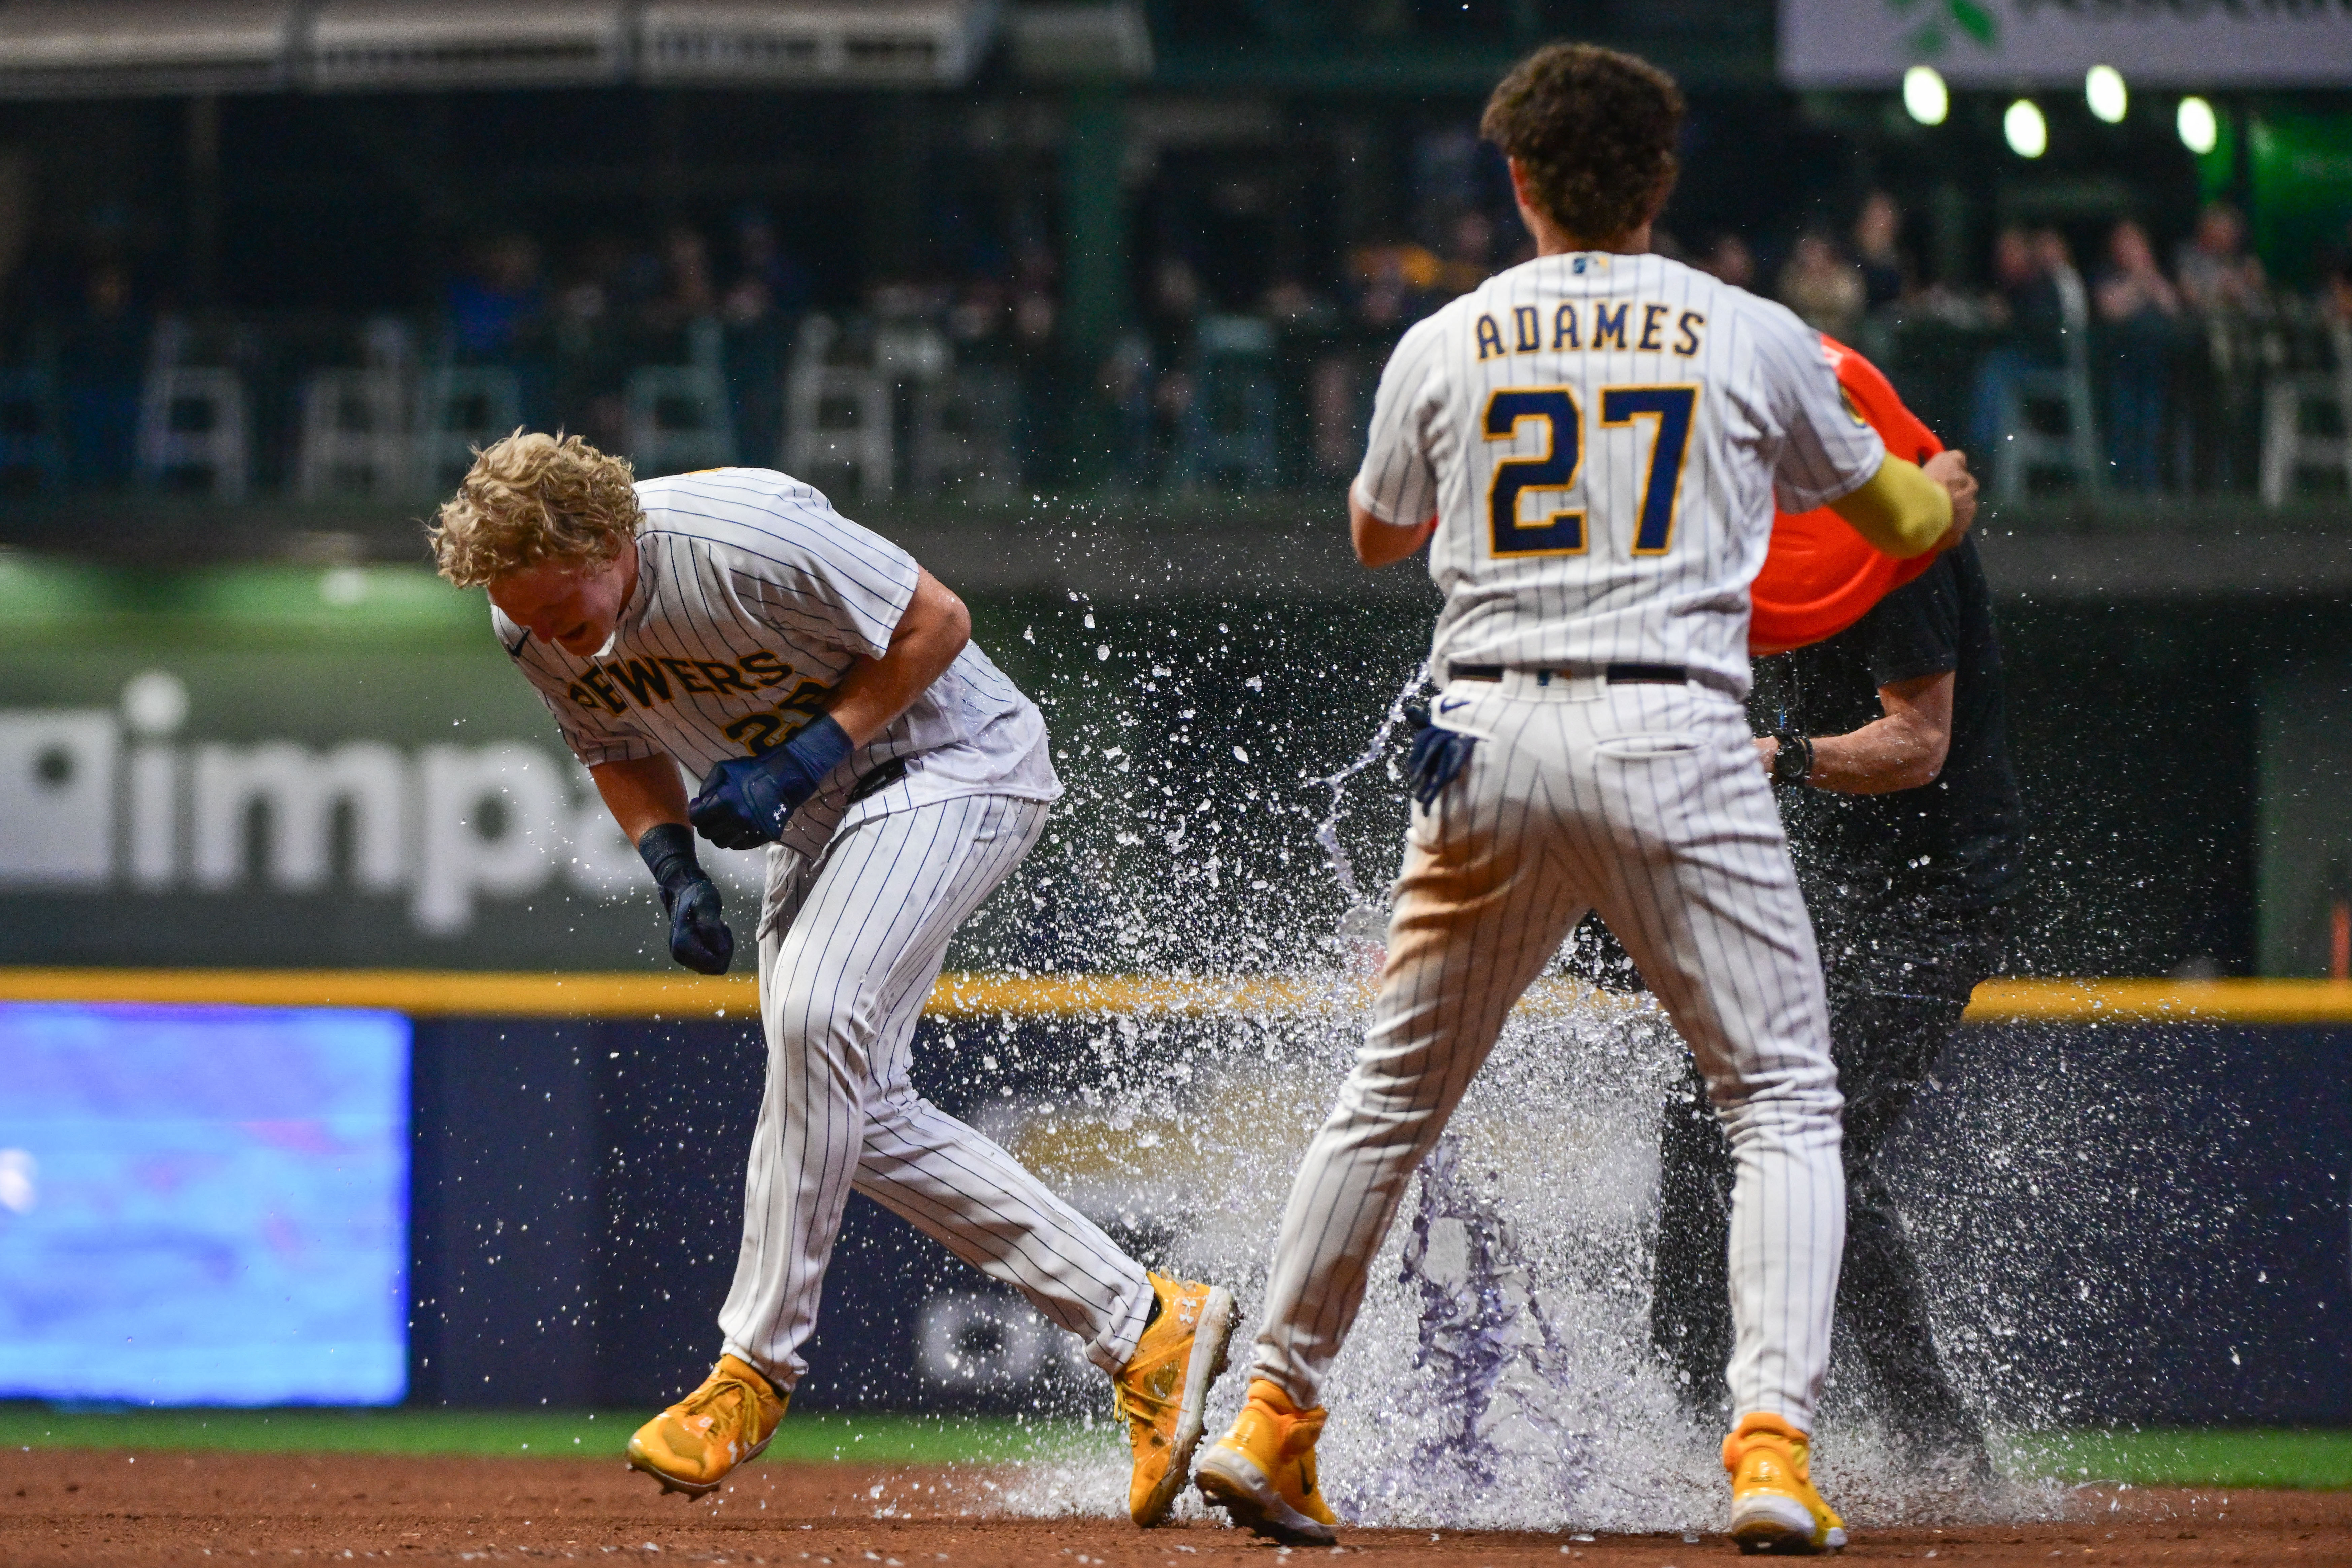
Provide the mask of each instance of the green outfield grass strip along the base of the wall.
{"label": "green outfield grass strip along the base of the wall", "polygon": [[[466,1453],[619,1458],[642,1410],[56,1410],[0,1403],[0,1446],[221,1448],[235,1453]],[[978,1415],[793,1415],[769,1460],[1004,1465],[1073,1450],[1117,1453],[1094,1425]],[[2133,1486],[2352,1488],[2352,1432],[2154,1427],[2030,1432],[2004,1443],[2013,1476]]]}

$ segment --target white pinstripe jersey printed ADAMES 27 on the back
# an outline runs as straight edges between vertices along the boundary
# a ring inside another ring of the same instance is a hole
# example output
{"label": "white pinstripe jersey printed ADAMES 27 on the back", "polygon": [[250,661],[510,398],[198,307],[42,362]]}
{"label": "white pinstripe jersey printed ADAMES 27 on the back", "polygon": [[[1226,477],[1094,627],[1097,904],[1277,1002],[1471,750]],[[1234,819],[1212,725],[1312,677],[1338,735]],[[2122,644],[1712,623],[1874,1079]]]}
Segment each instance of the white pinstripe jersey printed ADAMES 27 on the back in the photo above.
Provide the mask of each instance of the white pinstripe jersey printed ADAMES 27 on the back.
{"label": "white pinstripe jersey printed ADAMES 27 on the back", "polygon": [[1884,461],[1783,306],[1665,256],[1538,256],[1397,343],[1357,501],[1437,517],[1435,658],[1672,663],[1748,689],[1773,491],[1802,512]]}

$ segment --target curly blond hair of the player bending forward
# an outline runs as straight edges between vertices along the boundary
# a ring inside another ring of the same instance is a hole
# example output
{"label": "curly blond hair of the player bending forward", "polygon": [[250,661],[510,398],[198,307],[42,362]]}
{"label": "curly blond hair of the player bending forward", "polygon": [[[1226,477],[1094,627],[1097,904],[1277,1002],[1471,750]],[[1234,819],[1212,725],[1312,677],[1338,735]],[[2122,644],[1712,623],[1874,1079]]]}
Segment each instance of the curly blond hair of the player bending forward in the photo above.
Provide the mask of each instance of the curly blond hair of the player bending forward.
{"label": "curly blond hair of the player bending forward", "polygon": [[459,588],[541,562],[602,567],[644,522],[635,477],[628,458],[576,435],[517,428],[473,454],[463,484],[426,529],[433,562]]}

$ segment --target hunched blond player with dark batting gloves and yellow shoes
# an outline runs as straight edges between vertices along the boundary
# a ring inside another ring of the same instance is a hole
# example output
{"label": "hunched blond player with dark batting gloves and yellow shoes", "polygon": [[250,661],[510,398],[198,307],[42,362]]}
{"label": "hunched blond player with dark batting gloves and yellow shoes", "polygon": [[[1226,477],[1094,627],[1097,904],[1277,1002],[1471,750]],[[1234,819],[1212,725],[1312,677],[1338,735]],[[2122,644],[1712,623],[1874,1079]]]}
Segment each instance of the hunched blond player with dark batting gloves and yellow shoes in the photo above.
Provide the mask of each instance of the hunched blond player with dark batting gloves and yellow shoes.
{"label": "hunched blond player with dark batting gloves and yellow shoes", "polygon": [[948,938],[1061,795],[1044,719],[971,644],[962,599],[788,475],[633,482],[579,437],[520,430],[475,458],[433,550],[489,590],[499,642],[654,875],[680,964],[734,957],[694,835],[769,844],[767,1091],[722,1354],[628,1462],[703,1495],[767,1446],[863,1192],[1084,1338],[1129,1427],[1129,1514],[1167,1519],[1232,1295],[1145,1272],[908,1081]]}

